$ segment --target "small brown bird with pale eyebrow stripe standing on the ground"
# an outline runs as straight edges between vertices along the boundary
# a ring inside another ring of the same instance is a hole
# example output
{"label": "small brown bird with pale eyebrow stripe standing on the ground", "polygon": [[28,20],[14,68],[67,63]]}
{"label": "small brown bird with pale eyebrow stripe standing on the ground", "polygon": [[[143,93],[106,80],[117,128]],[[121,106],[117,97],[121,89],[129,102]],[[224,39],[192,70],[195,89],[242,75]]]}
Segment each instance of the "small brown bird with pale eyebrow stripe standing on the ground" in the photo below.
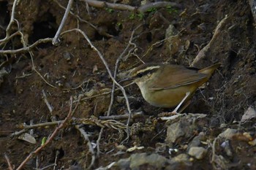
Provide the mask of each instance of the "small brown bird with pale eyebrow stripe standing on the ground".
{"label": "small brown bird with pale eyebrow stripe standing on the ground", "polygon": [[139,86],[143,98],[149,104],[167,108],[178,105],[173,111],[177,113],[181,104],[187,103],[195,90],[207,82],[219,66],[217,63],[198,70],[178,65],[146,63],[134,69],[127,80],[133,80]]}

